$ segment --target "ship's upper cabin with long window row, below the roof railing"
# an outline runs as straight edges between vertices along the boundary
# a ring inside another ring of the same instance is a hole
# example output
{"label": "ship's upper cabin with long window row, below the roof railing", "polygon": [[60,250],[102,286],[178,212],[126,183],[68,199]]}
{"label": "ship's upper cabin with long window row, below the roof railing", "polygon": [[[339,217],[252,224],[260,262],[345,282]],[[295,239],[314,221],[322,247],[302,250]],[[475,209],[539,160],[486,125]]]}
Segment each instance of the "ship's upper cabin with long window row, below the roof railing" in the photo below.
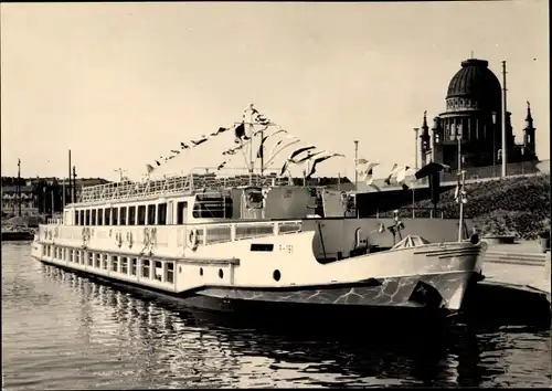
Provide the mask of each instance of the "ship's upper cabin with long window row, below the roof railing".
{"label": "ship's upper cabin with long window row, below the roof railing", "polygon": [[[67,225],[176,225],[225,220],[354,216],[353,194],[299,186],[245,186],[142,200],[75,203],[64,210]],[[352,213],[352,214],[351,214]]]}

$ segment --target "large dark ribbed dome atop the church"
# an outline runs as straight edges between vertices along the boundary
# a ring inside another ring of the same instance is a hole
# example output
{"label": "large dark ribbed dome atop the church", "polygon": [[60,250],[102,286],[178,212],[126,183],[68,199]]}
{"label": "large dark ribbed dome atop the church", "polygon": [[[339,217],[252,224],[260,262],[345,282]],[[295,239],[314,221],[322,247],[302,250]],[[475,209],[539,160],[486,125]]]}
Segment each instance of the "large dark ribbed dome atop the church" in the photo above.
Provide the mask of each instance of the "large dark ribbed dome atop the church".
{"label": "large dark ribbed dome atop the church", "polygon": [[485,60],[463,61],[461,70],[454,75],[448,84],[447,103],[466,99],[471,108],[500,110],[500,82],[488,65],[489,62]]}

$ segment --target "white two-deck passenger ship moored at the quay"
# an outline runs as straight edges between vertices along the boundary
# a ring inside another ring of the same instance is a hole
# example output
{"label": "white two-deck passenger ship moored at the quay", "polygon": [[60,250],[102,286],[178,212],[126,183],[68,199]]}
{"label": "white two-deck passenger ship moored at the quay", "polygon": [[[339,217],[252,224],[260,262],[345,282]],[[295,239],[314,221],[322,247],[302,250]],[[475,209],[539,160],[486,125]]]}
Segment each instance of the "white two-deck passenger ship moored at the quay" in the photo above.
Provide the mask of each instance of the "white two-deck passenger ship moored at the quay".
{"label": "white two-deck passenger ship moored at the quay", "polygon": [[455,220],[359,219],[354,200],[252,171],[124,180],[84,188],[32,254],[200,309],[458,310],[485,243],[455,241]]}

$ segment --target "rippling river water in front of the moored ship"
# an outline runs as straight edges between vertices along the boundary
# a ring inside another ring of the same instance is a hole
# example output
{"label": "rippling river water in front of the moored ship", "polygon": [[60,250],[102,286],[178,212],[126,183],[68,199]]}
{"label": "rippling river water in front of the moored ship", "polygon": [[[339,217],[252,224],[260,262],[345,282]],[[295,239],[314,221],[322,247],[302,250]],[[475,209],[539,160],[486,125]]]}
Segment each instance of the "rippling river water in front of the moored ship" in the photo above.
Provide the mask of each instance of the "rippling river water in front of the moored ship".
{"label": "rippling river water in front of the moored ship", "polygon": [[2,389],[549,387],[550,330],[439,337],[232,328],[2,243]]}

